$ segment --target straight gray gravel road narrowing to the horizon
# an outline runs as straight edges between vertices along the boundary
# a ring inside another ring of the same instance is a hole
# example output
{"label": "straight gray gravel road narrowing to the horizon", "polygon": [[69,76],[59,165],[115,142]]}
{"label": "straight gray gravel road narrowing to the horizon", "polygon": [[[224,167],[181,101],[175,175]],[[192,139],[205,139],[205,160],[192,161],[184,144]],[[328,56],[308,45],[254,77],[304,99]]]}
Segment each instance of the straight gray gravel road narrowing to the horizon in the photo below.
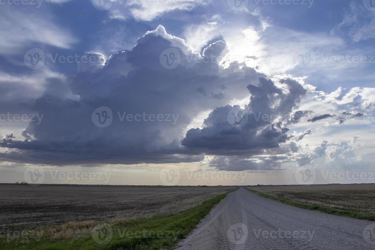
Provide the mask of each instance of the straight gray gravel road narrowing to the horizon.
{"label": "straight gray gravel road narrowing to the horizon", "polygon": [[241,187],[178,249],[375,249],[375,223],[292,207]]}

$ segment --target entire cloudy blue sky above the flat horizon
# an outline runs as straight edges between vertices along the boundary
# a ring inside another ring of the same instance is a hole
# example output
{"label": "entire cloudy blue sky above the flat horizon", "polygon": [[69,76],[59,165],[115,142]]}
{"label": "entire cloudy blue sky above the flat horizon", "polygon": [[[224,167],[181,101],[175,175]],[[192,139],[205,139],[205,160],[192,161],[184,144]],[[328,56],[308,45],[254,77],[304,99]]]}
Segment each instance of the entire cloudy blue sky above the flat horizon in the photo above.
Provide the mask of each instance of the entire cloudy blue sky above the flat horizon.
{"label": "entire cloudy blue sky above the flat horizon", "polygon": [[0,0],[0,183],[375,183],[374,0]]}

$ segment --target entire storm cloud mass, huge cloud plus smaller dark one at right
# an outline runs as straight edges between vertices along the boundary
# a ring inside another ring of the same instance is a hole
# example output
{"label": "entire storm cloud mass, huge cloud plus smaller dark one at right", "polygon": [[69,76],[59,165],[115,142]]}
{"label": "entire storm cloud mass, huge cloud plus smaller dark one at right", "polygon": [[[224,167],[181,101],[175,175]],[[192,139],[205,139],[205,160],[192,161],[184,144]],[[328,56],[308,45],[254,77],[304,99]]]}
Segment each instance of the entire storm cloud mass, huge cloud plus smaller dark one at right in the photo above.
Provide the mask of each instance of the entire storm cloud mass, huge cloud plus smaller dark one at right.
{"label": "entire storm cloud mass, huge cloud plus smaller dark one at right", "polygon": [[[91,54],[95,63],[78,65],[75,75],[51,75],[42,94],[18,102],[43,119],[30,121],[23,139],[5,136],[0,159],[47,165],[205,161],[231,170],[311,163],[318,148],[310,152],[302,143],[312,130],[288,133],[314,113],[299,108],[311,85],[268,79],[225,57],[230,51],[217,40],[202,54],[193,52],[159,25],[131,51],[107,61]],[[209,115],[196,126],[202,114]]]}

